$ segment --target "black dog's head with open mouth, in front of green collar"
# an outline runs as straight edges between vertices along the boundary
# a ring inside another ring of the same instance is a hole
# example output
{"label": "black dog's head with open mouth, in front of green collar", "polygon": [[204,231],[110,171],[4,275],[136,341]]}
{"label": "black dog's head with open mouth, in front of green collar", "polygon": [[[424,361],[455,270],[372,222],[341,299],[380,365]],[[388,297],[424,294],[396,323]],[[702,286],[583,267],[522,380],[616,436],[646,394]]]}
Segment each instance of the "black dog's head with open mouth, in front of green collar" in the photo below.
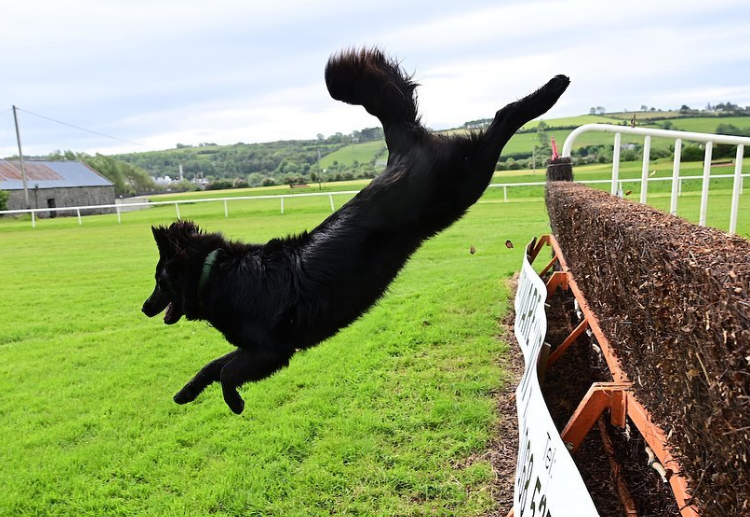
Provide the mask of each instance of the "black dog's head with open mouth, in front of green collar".
{"label": "black dog's head with open mouth, in front of green collar", "polygon": [[156,286],[154,292],[143,304],[143,313],[149,318],[166,309],[164,323],[177,323],[185,314],[182,296],[184,266],[187,261],[182,241],[200,233],[193,223],[179,221],[168,228],[151,228],[156,246],[159,249],[159,262],[156,264]]}

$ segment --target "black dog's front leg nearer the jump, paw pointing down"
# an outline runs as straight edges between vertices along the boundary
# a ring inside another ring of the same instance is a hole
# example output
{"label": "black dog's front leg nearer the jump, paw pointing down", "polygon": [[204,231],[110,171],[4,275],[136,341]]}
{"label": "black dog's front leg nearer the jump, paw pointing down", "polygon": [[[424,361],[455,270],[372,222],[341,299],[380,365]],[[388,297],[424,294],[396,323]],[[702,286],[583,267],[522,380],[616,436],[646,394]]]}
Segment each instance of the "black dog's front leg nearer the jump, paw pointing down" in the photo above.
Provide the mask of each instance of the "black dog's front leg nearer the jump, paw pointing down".
{"label": "black dog's front leg nearer the jump, paw pointing down", "polygon": [[237,393],[237,388],[246,382],[265,379],[284,368],[289,364],[289,357],[251,348],[241,348],[237,352],[221,370],[220,380],[224,402],[239,415],[245,409],[245,401]]}

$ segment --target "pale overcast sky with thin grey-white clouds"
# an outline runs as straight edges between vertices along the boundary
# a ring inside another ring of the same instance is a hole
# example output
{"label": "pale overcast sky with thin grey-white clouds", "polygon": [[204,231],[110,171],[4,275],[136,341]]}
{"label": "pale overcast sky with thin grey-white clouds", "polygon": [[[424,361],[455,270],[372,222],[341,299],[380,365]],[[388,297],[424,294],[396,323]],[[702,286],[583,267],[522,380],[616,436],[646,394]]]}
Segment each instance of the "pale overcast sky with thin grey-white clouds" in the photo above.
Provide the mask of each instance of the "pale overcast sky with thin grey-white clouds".
{"label": "pale overcast sky with thin grey-white clouds", "polygon": [[0,8],[0,156],[18,152],[13,105],[25,155],[373,127],[328,96],[323,70],[374,45],[415,74],[434,129],[558,73],[572,84],[545,118],[750,105],[747,0],[23,0]]}

